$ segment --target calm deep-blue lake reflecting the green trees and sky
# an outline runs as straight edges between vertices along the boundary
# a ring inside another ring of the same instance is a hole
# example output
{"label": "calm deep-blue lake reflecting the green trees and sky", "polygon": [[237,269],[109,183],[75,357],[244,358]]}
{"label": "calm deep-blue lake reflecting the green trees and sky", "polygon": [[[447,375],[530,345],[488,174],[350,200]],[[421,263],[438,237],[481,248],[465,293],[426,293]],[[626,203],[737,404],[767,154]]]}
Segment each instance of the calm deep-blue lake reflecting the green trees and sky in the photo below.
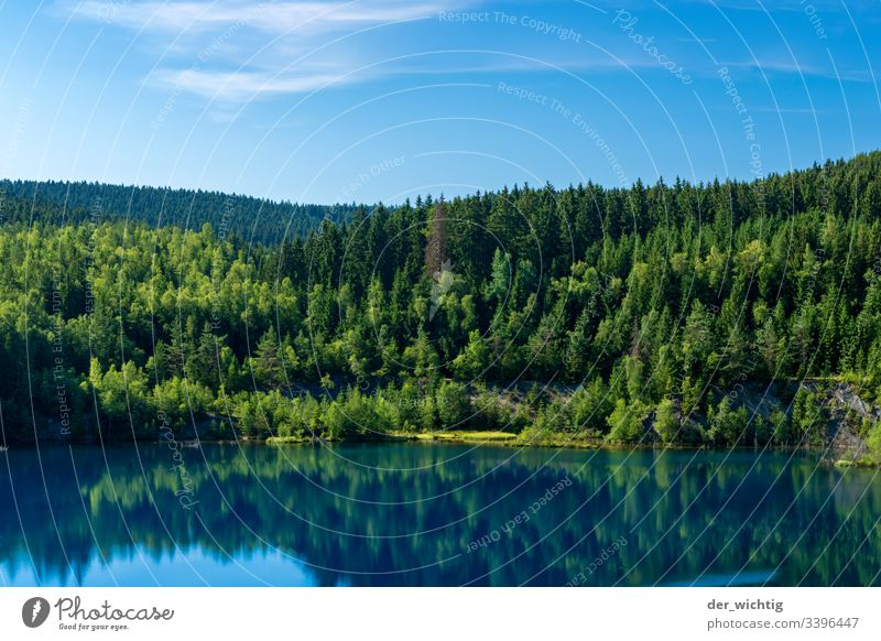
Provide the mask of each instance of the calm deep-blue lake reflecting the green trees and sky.
{"label": "calm deep-blue lake reflecting the green trees and sky", "polygon": [[881,475],[805,454],[11,448],[0,585],[879,585]]}

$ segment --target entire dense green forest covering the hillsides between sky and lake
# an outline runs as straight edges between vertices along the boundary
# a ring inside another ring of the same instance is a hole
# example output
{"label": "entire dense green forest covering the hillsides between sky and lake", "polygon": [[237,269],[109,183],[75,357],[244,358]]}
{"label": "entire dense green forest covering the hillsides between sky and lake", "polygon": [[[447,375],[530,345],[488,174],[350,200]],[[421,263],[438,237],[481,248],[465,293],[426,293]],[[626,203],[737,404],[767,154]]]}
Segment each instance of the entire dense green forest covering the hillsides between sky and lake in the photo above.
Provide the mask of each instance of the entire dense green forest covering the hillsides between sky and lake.
{"label": "entire dense green forest covering the hillsides between sky and lake", "polygon": [[[36,200],[4,185],[7,441],[198,427],[819,446],[824,385],[881,394],[881,153],[336,219],[239,198],[229,230],[220,194],[187,209],[192,192],[80,184],[63,217],[64,185]],[[122,215],[90,215],[93,192]],[[881,449],[874,416],[855,430]]]}

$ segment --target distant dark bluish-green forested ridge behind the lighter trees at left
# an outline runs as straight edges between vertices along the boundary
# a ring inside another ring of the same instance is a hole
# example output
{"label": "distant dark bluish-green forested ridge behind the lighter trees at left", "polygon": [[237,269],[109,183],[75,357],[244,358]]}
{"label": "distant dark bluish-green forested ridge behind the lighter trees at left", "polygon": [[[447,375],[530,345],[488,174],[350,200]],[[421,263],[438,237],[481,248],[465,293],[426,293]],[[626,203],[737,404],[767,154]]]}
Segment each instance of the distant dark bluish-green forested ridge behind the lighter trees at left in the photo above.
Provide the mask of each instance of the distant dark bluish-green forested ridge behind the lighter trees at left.
{"label": "distant dark bluish-green forested ridge behind the lighter trees at left", "polygon": [[219,192],[54,181],[0,181],[0,221],[129,220],[194,230],[207,222],[217,231],[267,245],[281,242],[285,232],[289,238],[305,236],[325,218],[344,222],[355,209],[354,205],[300,205]]}

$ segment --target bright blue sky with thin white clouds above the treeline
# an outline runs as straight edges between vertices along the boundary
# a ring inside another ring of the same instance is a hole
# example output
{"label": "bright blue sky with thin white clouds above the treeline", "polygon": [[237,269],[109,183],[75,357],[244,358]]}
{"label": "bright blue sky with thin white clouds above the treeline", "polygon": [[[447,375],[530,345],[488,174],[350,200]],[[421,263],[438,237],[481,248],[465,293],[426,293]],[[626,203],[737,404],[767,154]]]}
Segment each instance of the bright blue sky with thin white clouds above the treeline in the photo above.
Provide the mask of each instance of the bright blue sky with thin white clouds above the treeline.
{"label": "bright blue sky with thin white clouds above the treeline", "polygon": [[881,0],[0,0],[0,176],[399,203],[881,148]]}

